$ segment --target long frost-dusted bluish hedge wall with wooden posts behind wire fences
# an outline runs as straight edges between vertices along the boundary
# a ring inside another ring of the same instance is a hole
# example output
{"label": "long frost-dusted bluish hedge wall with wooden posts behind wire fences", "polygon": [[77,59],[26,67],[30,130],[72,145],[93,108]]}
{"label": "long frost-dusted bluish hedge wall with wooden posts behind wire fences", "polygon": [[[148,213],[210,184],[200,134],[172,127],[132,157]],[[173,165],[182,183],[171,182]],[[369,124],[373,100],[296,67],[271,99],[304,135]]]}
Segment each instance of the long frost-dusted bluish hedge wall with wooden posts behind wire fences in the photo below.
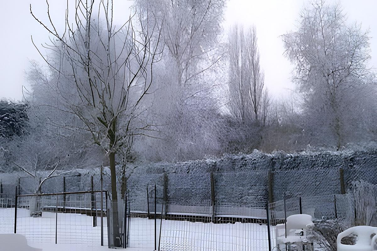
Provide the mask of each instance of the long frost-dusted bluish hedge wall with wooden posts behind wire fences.
{"label": "long frost-dusted bluish hedge wall with wooden posts behind wire fences", "polygon": [[[178,163],[135,162],[136,168],[127,187],[135,210],[145,210],[147,185],[150,191],[156,183],[157,196],[163,197],[164,180],[167,182],[167,198],[193,203],[208,203],[211,198],[210,173],[213,172],[215,200],[219,205],[247,205],[264,208],[268,202],[268,172],[272,172],[273,200],[280,200],[284,192],[294,196],[339,194],[340,171],[344,171],[345,189],[354,180],[366,180],[377,184],[377,149],[339,152],[274,152],[265,154],[225,155],[221,158],[192,160]],[[99,187],[99,170],[76,169],[66,177],[66,191],[90,190],[90,176],[94,189]],[[76,173],[77,172],[77,173]],[[80,174],[80,175],[78,175]],[[165,178],[164,178],[165,174]],[[3,184],[18,183],[17,176],[24,173],[0,174]],[[31,178],[20,179],[21,192],[33,186]],[[109,179],[104,179],[104,189],[109,189]],[[12,186],[12,191],[14,186]],[[62,177],[55,177],[44,184],[43,192],[61,192]]]}

